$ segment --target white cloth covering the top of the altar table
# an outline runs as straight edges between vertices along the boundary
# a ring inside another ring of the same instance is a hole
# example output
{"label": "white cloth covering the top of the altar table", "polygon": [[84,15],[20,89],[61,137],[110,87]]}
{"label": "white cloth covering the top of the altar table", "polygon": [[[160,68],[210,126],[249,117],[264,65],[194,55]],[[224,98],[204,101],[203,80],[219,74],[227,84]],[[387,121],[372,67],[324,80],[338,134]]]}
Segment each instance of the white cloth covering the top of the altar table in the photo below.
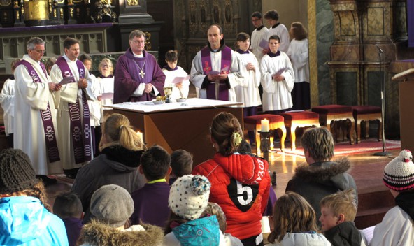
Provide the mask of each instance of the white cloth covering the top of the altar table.
{"label": "white cloth covering the top of the altar table", "polygon": [[242,106],[243,103],[235,103],[231,101],[220,101],[212,99],[187,99],[183,103],[164,103],[154,104],[152,101],[138,101],[138,102],[126,102],[118,104],[106,105],[109,108],[120,110],[131,110],[142,113],[151,113],[157,111],[169,111],[169,110],[187,110],[192,108],[215,108],[215,107],[227,107],[227,106]]}

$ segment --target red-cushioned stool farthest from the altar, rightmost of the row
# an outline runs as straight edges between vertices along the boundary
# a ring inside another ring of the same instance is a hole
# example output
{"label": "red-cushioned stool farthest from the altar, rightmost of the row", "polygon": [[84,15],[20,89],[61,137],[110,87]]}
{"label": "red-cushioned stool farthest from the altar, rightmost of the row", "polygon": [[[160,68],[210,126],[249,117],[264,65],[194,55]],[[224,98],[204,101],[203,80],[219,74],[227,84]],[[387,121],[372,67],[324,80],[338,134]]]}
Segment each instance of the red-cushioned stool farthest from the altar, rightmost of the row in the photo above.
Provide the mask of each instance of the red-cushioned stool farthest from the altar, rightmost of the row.
{"label": "red-cushioned stool farthest from the altar, rightmost of the row", "polygon": [[377,106],[353,106],[352,115],[355,120],[355,131],[357,131],[356,143],[361,141],[361,122],[365,122],[365,138],[368,138],[369,121],[378,120],[378,141],[383,139],[381,135],[381,107]]}

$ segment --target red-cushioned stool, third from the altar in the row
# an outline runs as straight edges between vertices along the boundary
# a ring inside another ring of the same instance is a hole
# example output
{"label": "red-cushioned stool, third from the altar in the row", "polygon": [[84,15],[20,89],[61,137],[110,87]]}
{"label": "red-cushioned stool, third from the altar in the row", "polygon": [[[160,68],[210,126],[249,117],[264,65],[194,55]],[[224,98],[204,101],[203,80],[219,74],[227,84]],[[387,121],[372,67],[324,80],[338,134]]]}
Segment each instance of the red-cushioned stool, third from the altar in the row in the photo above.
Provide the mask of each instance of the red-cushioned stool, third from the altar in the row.
{"label": "red-cushioned stool, third from the altar in the row", "polygon": [[[347,132],[349,134],[350,145],[354,143],[354,125],[355,120],[352,115],[352,107],[351,106],[343,106],[343,105],[325,105],[325,106],[317,106],[312,108],[313,112],[319,114],[319,121],[322,126],[327,126],[327,129],[331,131],[331,124],[333,121],[336,120],[349,120],[350,121],[350,129]],[[335,140],[337,140],[337,137]]]}

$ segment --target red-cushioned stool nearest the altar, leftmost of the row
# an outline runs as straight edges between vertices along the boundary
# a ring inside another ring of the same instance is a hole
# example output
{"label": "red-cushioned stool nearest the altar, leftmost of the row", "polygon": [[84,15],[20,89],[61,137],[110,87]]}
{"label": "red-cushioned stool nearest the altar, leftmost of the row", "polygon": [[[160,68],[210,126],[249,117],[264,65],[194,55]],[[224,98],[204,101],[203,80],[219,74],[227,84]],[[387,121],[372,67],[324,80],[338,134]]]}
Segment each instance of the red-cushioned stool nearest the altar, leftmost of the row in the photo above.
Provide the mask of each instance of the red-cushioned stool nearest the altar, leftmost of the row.
{"label": "red-cushioned stool nearest the altar, leftmost of the row", "polygon": [[[244,131],[247,134],[248,131],[255,131],[256,136],[256,153],[260,150],[260,133],[259,131],[262,128],[261,121],[262,120],[269,120],[269,130],[277,130],[280,129],[282,133],[278,132],[280,138],[280,150],[285,149],[285,138],[286,138],[286,128],[285,122],[282,116],[280,115],[252,115],[245,117],[243,119],[244,122]],[[273,134],[270,136],[270,145],[271,149],[273,149]]]}

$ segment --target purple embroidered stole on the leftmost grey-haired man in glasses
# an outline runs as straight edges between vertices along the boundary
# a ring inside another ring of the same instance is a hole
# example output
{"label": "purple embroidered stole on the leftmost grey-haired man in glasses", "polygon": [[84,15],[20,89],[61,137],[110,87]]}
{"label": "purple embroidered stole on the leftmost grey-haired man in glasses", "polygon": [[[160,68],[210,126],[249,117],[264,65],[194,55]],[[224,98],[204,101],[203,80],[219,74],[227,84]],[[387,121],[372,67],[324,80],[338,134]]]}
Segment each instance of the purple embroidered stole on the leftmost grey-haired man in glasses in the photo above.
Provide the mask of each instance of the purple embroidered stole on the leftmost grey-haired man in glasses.
{"label": "purple embroidered stole on the leftmost grey-haired man in glasses", "polygon": [[[20,64],[24,65],[27,68],[27,71],[29,71],[29,75],[34,83],[42,82],[41,78],[36,73],[36,70],[34,70],[34,67],[29,63],[29,61],[21,60],[16,64],[16,66]],[[43,65],[43,63],[40,63],[40,66],[43,70],[43,73],[45,73],[46,77],[48,77],[45,65]],[[49,101],[48,108],[46,108],[46,110],[40,110],[40,113],[43,122],[43,130],[45,131],[45,143],[46,150],[48,150],[49,162],[52,163],[55,161],[60,161],[59,150],[57,148],[55,127],[53,126],[52,113],[50,112]]]}

